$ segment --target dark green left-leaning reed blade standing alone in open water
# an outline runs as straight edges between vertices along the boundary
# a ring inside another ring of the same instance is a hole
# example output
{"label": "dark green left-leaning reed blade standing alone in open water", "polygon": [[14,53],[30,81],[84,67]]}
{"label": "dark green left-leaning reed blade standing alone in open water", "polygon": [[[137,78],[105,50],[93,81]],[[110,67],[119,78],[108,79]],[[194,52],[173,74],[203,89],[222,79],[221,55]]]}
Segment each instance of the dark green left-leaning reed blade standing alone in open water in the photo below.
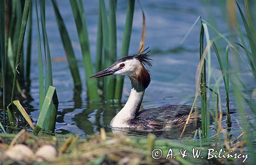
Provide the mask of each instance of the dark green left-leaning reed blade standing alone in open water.
{"label": "dark green left-leaning reed blade standing alone in open water", "polygon": [[56,16],[57,24],[58,24],[61,41],[62,41],[63,47],[65,48],[66,57],[67,57],[68,63],[69,63],[69,68],[71,71],[71,75],[73,77],[74,86],[77,91],[81,91],[81,89],[82,89],[81,79],[80,79],[80,75],[79,75],[79,70],[78,70],[73,46],[72,46],[67,28],[65,26],[64,20],[63,20],[62,16],[60,15],[60,12],[59,12],[59,9],[57,6],[57,2],[55,0],[52,0],[52,4],[53,4],[53,9],[54,9],[54,13]]}

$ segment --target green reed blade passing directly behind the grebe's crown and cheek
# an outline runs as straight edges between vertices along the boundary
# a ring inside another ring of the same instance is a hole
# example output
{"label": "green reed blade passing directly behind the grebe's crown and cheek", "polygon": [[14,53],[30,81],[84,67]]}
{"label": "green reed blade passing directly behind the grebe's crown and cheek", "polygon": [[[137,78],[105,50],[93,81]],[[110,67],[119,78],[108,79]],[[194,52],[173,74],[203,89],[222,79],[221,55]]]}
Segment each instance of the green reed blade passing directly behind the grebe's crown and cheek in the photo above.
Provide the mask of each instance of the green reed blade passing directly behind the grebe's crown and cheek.
{"label": "green reed blade passing directly behind the grebe's crown and cheek", "polygon": [[[132,27],[133,27],[135,0],[128,1],[127,3],[128,4],[127,4],[127,10],[126,10],[125,26],[123,31],[121,57],[124,57],[129,53]],[[122,99],[123,82],[124,82],[124,76],[116,77],[115,99],[117,100]]]}

